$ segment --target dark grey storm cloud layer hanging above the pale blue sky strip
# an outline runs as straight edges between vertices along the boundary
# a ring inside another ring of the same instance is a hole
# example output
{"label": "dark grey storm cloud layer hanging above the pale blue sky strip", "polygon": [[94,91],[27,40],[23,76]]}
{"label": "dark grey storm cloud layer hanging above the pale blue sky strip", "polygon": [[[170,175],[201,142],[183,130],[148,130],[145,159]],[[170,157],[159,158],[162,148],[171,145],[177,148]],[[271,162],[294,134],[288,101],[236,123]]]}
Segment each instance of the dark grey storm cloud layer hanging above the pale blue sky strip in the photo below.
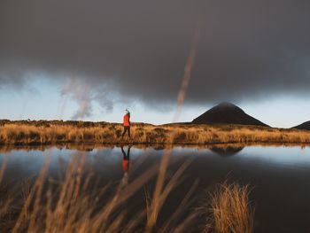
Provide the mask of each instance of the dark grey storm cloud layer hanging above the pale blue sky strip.
{"label": "dark grey storm cloud layer hanging above the pale blue sky strip", "polygon": [[307,0],[2,0],[0,82],[43,72],[96,97],[172,102],[199,21],[187,103],[306,93],[309,12]]}

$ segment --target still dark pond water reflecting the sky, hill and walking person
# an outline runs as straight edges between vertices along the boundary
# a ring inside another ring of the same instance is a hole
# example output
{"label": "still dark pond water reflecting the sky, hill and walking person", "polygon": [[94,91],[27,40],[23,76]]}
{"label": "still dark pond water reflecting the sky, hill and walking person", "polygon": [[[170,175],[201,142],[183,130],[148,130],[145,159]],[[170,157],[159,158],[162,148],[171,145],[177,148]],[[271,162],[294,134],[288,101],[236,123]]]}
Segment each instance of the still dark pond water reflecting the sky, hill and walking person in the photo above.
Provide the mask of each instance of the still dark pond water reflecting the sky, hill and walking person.
{"label": "still dark pond water reflecting the sky, hill and walking person", "polygon": [[[83,149],[83,150],[80,150]],[[39,174],[50,158],[50,175],[65,169],[73,156],[86,155],[86,166],[100,177],[101,183],[117,183],[128,173],[128,183],[171,153],[167,176],[183,162],[192,159],[179,184],[170,194],[161,218],[179,205],[195,181],[192,208],[204,206],[208,192],[217,183],[249,183],[255,205],[255,232],[310,232],[310,147],[229,146],[213,148],[174,147],[170,149],[115,146],[110,148],[16,148],[0,151],[0,164],[7,160],[3,184],[10,186]],[[143,194],[136,205],[143,204]],[[159,218],[159,221],[162,219]],[[198,220],[205,221],[204,216]],[[193,231],[195,231],[193,229]]]}

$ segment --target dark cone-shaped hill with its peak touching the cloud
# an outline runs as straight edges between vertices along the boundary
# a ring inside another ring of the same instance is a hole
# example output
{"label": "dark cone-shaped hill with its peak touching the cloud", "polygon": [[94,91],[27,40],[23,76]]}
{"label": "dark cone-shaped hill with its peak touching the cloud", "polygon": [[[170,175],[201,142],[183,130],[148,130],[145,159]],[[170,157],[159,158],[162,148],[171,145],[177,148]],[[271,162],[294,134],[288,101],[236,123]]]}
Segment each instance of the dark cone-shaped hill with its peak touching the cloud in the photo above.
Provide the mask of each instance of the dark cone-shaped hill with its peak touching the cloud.
{"label": "dark cone-shaped hill with its peak touching the cloud", "polygon": [[244,113],[238,106],[226,102],[214,106],[212,109],[198,116],[198,118],[192,120],[192,123],[267,126],[267,124],[260,120]]}

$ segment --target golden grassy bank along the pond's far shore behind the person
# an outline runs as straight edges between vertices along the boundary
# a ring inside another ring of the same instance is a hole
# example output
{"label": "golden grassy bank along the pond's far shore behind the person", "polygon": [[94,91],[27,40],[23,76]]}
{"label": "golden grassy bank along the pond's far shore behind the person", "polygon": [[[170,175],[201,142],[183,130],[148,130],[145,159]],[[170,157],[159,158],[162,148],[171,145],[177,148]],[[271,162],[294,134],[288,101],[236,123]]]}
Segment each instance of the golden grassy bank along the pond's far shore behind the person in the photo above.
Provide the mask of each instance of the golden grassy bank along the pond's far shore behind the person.
{"label": "golden grassy bank along the pond's far shore behind the person", "polygon": [[121,138],[117,123],[2,121],[0,144],[310,144],[310,131],[238,125],[134,123],[132,138]]}

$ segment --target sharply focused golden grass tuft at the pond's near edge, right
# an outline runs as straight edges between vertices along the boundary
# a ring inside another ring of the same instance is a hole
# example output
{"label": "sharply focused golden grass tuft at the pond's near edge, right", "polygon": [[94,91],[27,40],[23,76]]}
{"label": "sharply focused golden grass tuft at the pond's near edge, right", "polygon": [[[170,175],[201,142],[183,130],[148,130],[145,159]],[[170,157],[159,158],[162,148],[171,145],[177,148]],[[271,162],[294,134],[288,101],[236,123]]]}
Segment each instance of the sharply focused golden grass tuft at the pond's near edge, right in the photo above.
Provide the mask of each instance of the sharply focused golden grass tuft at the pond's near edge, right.
{"label": "sharply focused golden grass tuft at the pond's near edge, right", "polygon": [[252,233],[254,210],[249,201],[248,185],[225,182],[211,195],[210,217],[205,232]]}

